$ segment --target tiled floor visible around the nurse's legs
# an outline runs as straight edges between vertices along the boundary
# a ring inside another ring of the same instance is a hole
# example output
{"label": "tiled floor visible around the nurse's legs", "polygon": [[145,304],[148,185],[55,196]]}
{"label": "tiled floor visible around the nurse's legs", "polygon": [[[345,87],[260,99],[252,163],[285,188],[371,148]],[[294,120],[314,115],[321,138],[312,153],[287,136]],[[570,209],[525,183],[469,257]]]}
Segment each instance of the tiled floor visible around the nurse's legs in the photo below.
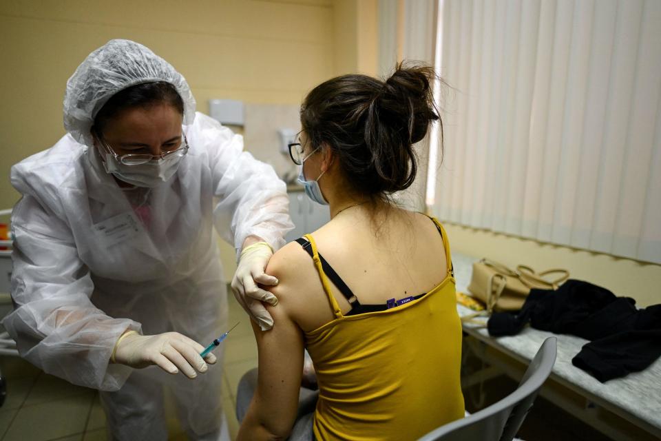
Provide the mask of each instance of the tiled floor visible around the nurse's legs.
{"label": "tiled floor visible around the nurse's legs", "polygon": [[[240,321],[225,340],[223,406],[231,438],[236,437],[236,386],[245,371],[257,367],[257,345],[249,318],[229,296],[229,325]],[[0,407],[1,441],[106,440],[105,414],[92,389],[77,387],[47,375],[20,358],[0,356],[7,399]],[[186,440],[166,400],[170,440]]]}

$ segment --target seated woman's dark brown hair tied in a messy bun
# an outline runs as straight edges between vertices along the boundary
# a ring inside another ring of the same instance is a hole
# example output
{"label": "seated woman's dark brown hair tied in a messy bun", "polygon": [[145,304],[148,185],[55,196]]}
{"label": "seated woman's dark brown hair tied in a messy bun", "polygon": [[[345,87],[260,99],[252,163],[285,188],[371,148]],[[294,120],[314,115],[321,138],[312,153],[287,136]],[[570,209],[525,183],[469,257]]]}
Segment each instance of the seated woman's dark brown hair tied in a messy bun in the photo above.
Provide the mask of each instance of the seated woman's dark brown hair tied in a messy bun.
{"label": "seated woman's dark brown hair tied in a messy bun", "polygon": [[432,121],[441,123],[430,87],[434,78],[426,65],[400,63],[386,81],[359,74],[330,79],[303,101],[302,128],[313,148],[333,151],[355,192],[386,200],[413,183],[412,144]]}

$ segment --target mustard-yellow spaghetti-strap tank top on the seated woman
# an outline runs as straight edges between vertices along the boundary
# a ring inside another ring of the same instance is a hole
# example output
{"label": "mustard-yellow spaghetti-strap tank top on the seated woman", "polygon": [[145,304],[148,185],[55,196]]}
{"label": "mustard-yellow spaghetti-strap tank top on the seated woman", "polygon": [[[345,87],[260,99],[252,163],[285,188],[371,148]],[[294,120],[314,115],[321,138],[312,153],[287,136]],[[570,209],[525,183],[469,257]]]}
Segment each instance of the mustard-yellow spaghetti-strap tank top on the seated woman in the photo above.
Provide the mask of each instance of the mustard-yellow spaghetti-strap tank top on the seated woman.
{"label": "mustard-yellow spaghetti-strap tank top on the seated woman", "polygon": [[343,316],[330,291],[314,238],[306,235],[335,319],[306,332],[317,371],[317,440],[415,440],[463,418],[461,320],[450,245],[448,276],[416,300]]}

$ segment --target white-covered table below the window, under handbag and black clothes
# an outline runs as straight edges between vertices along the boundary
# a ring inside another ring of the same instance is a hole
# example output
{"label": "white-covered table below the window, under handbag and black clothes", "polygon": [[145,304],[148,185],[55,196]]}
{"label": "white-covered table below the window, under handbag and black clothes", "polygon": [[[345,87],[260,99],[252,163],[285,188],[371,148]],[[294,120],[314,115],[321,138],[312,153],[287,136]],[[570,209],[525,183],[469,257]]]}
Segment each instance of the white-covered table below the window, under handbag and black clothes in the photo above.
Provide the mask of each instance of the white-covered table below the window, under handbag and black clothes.
{"label": "white-covered table below the window, under handbag and black clothes", "polygon": [[[476,260],[478,259],[465,254],[454,253],[452,255],[457,291],[467,292],[472,273],[472,263]],[[466,316],[474,312],[462,305],[457,305],[457,311],[459,311],[460,316]],[[630,373],[624,378],[616,378],[602,383],[571,364],[571,359],[588,342],[583,338],[565,334],[552,334],[532,327],[526,327],[516,336],[497,338],[489,336],[487,329],[479,325],[464,323],[463,330],[466,334],[480,340],[485,345],[524,362],[526,365],[532,360],[537,349],[546,338],[556,336],[558,338],[558,356],[551,376],[549,376],[551,380],[635,424],[653,437],[661,439],[661,358],[653,362],[644,371]],[[567,410],[576,415],[574,409]],[[581,418],[580,415],[576,416]],[[591,421],[589,420],[590,418],[587,418],[586,422],[590,424]],[[603,427],[596,428],[604,429]],[[609,431],[608,435],[619,439],[633,439],[627,437],[626,433]]]}

